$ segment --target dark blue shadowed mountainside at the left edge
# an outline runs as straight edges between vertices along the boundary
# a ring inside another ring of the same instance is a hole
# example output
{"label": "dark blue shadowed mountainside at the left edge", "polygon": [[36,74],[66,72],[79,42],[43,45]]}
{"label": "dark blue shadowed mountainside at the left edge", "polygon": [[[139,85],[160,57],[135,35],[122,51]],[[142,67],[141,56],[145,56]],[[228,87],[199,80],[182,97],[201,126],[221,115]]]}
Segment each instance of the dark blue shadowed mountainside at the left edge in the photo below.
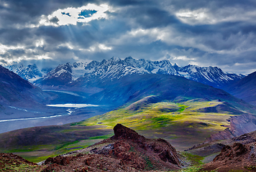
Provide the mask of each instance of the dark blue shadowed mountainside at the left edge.
{"label": "dark blue shadowed mountainside at the left edge", "polygon": [[35,87],[19,75],[0,66],[0,104],[32,106],[45,97],[40,88]]}

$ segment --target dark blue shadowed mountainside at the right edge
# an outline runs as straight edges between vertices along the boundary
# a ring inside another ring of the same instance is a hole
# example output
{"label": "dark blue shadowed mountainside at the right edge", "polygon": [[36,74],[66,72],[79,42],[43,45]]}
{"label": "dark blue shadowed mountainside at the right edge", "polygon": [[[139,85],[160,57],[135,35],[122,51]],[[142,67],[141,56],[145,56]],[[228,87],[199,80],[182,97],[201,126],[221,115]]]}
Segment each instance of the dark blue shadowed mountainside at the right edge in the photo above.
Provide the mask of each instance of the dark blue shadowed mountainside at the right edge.
{"label": "dark blue shadowed mountainside at the right edge", "polygon": [[256,105],[256,72],[225,87],[224,90],[252,105]]}

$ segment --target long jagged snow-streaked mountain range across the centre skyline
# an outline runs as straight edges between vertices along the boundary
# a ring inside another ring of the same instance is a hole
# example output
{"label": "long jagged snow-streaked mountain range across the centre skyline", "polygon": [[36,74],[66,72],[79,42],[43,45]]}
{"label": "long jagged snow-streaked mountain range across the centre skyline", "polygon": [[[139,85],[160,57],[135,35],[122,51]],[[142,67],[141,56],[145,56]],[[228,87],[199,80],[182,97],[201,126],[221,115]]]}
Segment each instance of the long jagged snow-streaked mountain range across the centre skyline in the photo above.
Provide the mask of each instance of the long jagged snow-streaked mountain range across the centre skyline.
{"label": "long jagged snow-streaked mountain range across the centre skyline", "polygon": [[98,78],[114,80],[133,74],[177,75],[213,87],[224,87],[244,77],[244,75],[223,72],[218,67],[198,67],[195,65],[178,67],[176,64],[172,65],[168,60],[150,61],[133,59],[132,57],[125,59],[112,57],[108,60],[92,61],[88,64],[74,63],[72,65],[67,63],[59,65],[36,83],[38,85],[58,86],[68,85],[81,75],[86,78],[85,80],[93,81]]}

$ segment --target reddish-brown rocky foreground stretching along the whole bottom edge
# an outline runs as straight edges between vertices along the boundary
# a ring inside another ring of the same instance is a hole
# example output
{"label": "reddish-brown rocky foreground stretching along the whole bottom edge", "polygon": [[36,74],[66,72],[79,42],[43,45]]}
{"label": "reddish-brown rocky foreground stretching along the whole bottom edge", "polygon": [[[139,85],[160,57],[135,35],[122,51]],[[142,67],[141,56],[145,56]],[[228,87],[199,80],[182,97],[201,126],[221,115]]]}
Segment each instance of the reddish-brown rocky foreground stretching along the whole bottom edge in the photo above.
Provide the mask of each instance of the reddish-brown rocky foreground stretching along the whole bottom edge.
{"label": "reddish-brown rocky foreground stretching along the whole bottom edge", "polygon": [[[188,153],[212,161],[194,171],[256,171],[256,131],[229,140],[196,145]],[[186,171],[189,162],[161,138],[148,139],[124,125],[114,127],[111,138],[88,148],[40,163],[12,153],[0,153],[0,171]]]}

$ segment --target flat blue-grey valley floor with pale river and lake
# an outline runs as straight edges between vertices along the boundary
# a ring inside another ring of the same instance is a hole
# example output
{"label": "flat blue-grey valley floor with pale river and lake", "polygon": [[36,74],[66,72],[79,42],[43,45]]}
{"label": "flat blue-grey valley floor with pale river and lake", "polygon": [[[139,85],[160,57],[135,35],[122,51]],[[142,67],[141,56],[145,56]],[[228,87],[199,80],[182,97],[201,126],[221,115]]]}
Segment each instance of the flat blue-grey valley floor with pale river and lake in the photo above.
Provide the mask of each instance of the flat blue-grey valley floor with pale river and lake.
{"label": "flat blue-grey valley floor with pale river and lake", "polygon": [[[49,92],[49,90],[43,91]],[[55,99],[51,100],[52,104],[50,105],[41,106],[37,109],[22,109],[13,106],[4,108],[4,115],[0,116],[0,133],[21,128],[74,123],[106,113],[110,108],[108,105],[78,104],[83,100],[83,96],[78,96],[75,92],[55,90],[50,92],[55,92],[52,95],[55,96]],[[81,99],[76,97],[81,97]]]}

